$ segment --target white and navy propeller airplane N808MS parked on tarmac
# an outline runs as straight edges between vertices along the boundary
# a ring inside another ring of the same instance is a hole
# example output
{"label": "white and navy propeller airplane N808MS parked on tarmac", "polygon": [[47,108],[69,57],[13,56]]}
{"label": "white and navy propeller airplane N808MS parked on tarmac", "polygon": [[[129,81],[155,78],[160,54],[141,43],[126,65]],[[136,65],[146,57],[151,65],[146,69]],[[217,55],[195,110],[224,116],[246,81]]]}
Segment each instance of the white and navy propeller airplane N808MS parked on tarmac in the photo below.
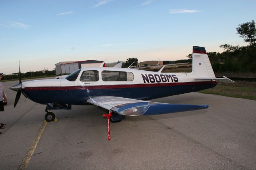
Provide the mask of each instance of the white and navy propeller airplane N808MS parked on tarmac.
{"label": "white and navy propeller airplane N808MS parked on tarmac", "polygon": [[[14,107],[21,93],[28,99],[46,105],[45,120],[54,121],[54,109],[71,109],[72,105],[96,105],[113,123],[125,116],[156,115],[207,109],[208,105],[168,104],[148,101],[215,87],[217,81],[204,47],[193,46],[191,73],[162,73],[118,67],[84,67],[62,79],[20,81],[10,89],[17,91]],[[109,137],[109,136],[108,136]],[[108,138],[110,140],[110,138]]]}

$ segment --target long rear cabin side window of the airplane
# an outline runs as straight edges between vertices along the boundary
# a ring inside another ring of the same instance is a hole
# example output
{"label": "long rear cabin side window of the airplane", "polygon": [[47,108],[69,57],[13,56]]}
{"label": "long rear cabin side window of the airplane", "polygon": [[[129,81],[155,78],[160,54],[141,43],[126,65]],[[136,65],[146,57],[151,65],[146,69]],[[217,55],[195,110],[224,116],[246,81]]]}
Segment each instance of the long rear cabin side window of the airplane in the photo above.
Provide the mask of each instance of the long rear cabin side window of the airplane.
{"label": "long rear cabin side window of the airplane", "polygon": [[101,77],[103,81],[132,81],[133,74],[124,71],[102,71]]}

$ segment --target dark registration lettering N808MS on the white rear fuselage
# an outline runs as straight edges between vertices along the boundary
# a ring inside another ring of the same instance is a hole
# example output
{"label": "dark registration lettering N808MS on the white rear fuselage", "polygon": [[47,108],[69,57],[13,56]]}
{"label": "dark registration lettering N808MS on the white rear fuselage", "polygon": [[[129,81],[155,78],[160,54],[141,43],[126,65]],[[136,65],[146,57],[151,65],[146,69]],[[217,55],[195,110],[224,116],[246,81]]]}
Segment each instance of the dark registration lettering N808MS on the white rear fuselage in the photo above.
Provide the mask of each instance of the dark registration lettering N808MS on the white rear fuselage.
{"label": "dark registration lettering N808MS on the white rear fuselage", "polygon": [[142,74],[144,83],[166,83],[166,82],[178,82],[178,77],[174,74]]}

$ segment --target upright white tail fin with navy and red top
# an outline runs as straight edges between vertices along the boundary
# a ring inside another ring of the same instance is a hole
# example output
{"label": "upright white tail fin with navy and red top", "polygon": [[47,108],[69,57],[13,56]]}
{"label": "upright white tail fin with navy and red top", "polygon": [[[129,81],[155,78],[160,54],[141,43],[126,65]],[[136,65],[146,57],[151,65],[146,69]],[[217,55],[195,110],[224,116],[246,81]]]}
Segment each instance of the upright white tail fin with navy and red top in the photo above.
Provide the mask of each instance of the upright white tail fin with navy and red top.
{"label": "upright white tail fin with navy and red top", "polygon": [[204,47],[193,46],[192,73],[197,77],[216,78]]}

